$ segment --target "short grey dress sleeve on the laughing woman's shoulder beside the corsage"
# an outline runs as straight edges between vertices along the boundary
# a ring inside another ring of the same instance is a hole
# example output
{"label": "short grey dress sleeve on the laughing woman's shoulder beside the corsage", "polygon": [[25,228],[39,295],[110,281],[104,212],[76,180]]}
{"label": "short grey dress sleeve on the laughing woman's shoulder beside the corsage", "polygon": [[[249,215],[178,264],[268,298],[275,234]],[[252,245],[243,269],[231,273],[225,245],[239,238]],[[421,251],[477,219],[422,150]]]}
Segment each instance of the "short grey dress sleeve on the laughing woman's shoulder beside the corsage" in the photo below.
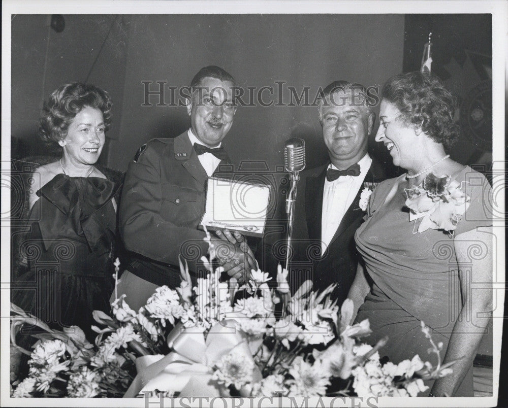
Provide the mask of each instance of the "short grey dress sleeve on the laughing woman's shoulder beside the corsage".
{"label": "short grey dress sleeve on the laughing woman's shoulder beside the corsage", "polygon": [[469,207],[457,223],[454,235],[467,232],[477,227],[492,225],[493,201],[492,187],[481,173],[470,167],[456,179],[462,185],[462,190],[470,197]]}

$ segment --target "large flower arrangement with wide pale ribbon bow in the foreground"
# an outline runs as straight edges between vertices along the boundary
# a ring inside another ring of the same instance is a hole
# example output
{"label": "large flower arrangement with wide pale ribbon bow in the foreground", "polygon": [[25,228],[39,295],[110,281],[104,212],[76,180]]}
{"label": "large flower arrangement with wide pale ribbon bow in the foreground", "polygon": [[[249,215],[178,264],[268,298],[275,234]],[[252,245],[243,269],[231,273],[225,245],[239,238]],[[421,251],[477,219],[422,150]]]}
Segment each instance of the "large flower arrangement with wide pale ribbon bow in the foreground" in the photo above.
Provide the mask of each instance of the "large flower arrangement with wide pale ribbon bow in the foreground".
{"label": "large flower arrangement with wide pale ribbon bow in the foreground", "polygon": [[[290,296],[288,271],[276,282],[261,270],[240,285],[219,282],[212,268],[215,249],[202,260],[208,274],[192,280],[180,263],[182,283],[157,288],[138,312],[124,296],[112,316],[95,311],[94,344],[73,326],[52,331],[11,304],[11,343],[22,325],[45,333],[30,353],[28,375],[12,382],[12,396],[135,397],[162,391],[166,396],[416,396],[423,381],[447,375],[452,363],[432,367],[419,356],[398,365],[379,362],[378,350],[359,338],[368,320],[351,325],[353,302],[340,308],[330,300],[334,285],[313,292],[310,281]],[[118,272],[118,264],[116,264]],[[101,327],[99,327],[101,326]],[[428,329],[423,330],[439,358]],[[427,330],[427,331],[425,331]],[[335,379],[342,381],[334,386]]]}

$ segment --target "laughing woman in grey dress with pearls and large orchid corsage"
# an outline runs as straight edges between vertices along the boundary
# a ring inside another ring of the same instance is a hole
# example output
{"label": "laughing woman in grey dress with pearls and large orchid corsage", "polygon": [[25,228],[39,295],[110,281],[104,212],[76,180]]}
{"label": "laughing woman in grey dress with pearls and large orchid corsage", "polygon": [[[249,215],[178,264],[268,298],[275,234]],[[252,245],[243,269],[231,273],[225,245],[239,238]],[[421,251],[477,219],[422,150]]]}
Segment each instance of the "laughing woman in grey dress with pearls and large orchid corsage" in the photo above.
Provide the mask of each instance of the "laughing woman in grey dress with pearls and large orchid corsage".
{"label": "laughing woman in grey dress with pearls and large orchid corsage", "polygon": [[460,359],[419,396],[473,395],[472,362],[492,311],[492,189],[447,154],[459,135],[454,112],[433,75],[388,80],[375,140],[407,172],[377,185],[355,235],[364,267],[349,297],[356,321],[370,321],[369,343],[389,337],[380,356],[397,364],[418,354],[436,366],[423,321],[441,346],[441,365]]}

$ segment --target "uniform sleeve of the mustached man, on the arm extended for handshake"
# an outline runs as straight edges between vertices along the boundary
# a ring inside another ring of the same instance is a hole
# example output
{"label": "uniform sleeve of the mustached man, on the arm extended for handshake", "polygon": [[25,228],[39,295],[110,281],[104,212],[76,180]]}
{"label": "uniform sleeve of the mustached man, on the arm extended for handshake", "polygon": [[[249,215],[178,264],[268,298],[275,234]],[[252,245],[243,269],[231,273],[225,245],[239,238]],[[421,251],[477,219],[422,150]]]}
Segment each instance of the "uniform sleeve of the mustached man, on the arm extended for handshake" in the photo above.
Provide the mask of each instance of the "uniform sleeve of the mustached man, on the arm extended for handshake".
{"label": "uniform sleeve of the mustached man, on the arm extended for handshake", "polygon": [[208,252],[205,233],[162,217],[160,152],[160,143],[149,142],[129,164],[120,201],[120,234],[130,251],[172,265],[178,265],[181,254],[195,270],[196,260]]}

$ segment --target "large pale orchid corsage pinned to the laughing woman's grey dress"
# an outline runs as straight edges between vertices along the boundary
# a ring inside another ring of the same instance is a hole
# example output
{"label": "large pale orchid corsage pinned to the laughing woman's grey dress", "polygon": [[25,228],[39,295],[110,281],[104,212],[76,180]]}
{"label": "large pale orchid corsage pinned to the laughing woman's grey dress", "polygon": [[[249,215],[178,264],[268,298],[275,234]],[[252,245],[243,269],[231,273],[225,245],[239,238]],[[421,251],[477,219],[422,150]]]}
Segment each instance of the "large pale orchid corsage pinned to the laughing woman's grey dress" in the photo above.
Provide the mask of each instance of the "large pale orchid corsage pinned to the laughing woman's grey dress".
{"label": "large pale orchid corsage pinned to the laughing woman's grey dress", "polygon": [[[453,235],[457,223],[469,207],[470,197],[460,187],[461,184],[448,175],[437,177],[431,173],[425,177],[423,188],[404,189],[409,221],[415,221],[416,227],[416,220],[423,217],[418,232],[432,228]],[[416,233],[414,229],[413,233]]]}

